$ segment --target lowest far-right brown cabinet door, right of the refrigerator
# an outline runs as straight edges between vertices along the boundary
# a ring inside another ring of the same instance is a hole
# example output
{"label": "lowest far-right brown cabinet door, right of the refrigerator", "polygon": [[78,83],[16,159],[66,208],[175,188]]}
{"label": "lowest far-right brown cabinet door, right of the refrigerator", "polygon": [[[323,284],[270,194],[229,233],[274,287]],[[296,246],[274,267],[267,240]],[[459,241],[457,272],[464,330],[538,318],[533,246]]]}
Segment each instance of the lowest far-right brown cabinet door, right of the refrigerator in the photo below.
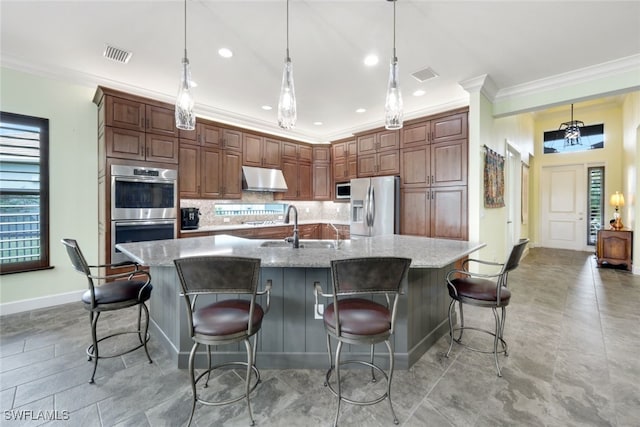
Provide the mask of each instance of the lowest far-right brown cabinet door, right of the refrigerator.
{"label": "lowest far-right brown cabinet door, right of the refrigerator", "polygon": [[466,240],[466,186],[431,188],[430,237]]}

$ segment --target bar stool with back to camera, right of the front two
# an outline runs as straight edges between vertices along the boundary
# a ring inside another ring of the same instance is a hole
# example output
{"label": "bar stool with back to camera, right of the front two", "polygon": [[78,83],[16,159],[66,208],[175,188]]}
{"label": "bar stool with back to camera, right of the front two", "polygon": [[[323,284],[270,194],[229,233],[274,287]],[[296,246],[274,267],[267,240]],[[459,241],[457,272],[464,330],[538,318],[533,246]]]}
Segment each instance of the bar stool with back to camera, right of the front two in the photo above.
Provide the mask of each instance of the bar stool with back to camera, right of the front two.
{"label": "bar stool with back to camera, right of the front two", "polygon": [[[393,422],[398,424],[391,403],[391,380],[393,377],[394,352],[389,338],[393,334],[400,287],[405,281],[411,260],[395,257],[365,257],[331,261],[333,293],[325,294],[320,283],[314,284],[316,307],[318,296],[331,298],[333,302],[324,310],[323,320],[327,331],[327,352],[329,369],[324,385],[338,398],[334,426],[338,425],[341,402],[354,405],[374,405],[385,399]],[[383,295],[386,304],[378,303],[363,296]],[[335,358],[331,351],[331,337],[337,340]],[[389,352],[389,368],[385,372],[374,363],[374,346],[384,342]],[[343,344],[369,345],[369,361],[359,359],[340,360]],[[340,368],[344,365],[358,364],[371,368],[372,382],[376,382],[375,372],[382,374],[387,381],[386,391],[369,400],[355,400],[343,394],[340,382]],[[331,384],[335,372],[336,386]]]}

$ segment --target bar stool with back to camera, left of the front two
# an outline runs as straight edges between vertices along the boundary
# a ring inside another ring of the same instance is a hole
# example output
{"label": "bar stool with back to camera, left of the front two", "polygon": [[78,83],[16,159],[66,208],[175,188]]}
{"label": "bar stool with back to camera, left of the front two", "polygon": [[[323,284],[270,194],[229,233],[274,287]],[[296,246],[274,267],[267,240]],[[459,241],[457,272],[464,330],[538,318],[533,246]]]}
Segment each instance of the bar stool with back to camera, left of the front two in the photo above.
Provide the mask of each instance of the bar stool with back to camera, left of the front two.
{"label": "bar stool with back to camera, left of the front two", "polygon": [[[250,425],[254,425],[249,395],[260,382],[260,371],[256,367],[257,335],[264,315],[269,311],[271,281],[267,281],[265,289],[258,292],[260,275],[260,259],[226,256],[203,256],[174,260],[180,285],[181,295],[187,307],[187,321],[193,347],[189,354],[189,376],[193,392],[193,403],[189,422],[191,425],[199,402],[207,406],[221,406],[246,399],[249,410]],[[224,294],[234,297],[222,299]],[[256,302],[256,296],[266,294],[266,309]],[[215,302],[205,301],[197,304],[198,297],[215,295]],[[239,298],[245,295],[248,298]],[[253,348],[250,338],[254,337]],[[247,352],[247,361],[231,361],[211,366],[211,346],[228,345],[243,342]],[[207,346],[207,369],[198,377],[195,376],[194,360],[200,344]],[[224,400],[210,401],[198,395],[197,384],[206,376],[204,387],[208,386],[211,372],[229,366],[246,367],[244,393]],[[253,381],[252,381],[252,376]]]}

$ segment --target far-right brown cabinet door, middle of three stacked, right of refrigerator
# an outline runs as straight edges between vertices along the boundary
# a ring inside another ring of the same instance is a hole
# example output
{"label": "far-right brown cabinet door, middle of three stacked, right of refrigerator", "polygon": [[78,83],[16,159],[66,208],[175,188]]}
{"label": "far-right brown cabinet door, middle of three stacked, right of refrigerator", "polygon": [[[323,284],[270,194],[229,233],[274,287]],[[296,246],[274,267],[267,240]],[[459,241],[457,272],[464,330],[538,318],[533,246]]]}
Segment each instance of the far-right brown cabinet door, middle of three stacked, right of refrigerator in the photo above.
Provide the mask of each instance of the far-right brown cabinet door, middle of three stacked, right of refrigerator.
{"label": "far-right brown cabinet door, middle of three stacked, right of refrigerator", "polygon": [[431,186],[467,185],[467,140],[431,145]]}

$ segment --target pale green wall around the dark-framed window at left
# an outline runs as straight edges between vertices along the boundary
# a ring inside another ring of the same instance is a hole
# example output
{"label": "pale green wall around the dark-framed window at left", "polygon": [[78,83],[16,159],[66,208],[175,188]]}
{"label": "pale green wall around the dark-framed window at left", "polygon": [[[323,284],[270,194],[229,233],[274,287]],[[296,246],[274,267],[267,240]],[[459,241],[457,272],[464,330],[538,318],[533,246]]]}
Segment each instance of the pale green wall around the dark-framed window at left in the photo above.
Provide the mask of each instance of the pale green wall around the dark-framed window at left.
{"label": "pale green wall around the dark-framed window at left", "polygon": [[[0,109],[49,119],[52,269],[0,276],[2,314],[78,301],[85,279],[72,270],[60,239],[79,241],[98,259],[97,107],[95,88],[0,69]],[[18,303],[18,304],[16,304]]]}

